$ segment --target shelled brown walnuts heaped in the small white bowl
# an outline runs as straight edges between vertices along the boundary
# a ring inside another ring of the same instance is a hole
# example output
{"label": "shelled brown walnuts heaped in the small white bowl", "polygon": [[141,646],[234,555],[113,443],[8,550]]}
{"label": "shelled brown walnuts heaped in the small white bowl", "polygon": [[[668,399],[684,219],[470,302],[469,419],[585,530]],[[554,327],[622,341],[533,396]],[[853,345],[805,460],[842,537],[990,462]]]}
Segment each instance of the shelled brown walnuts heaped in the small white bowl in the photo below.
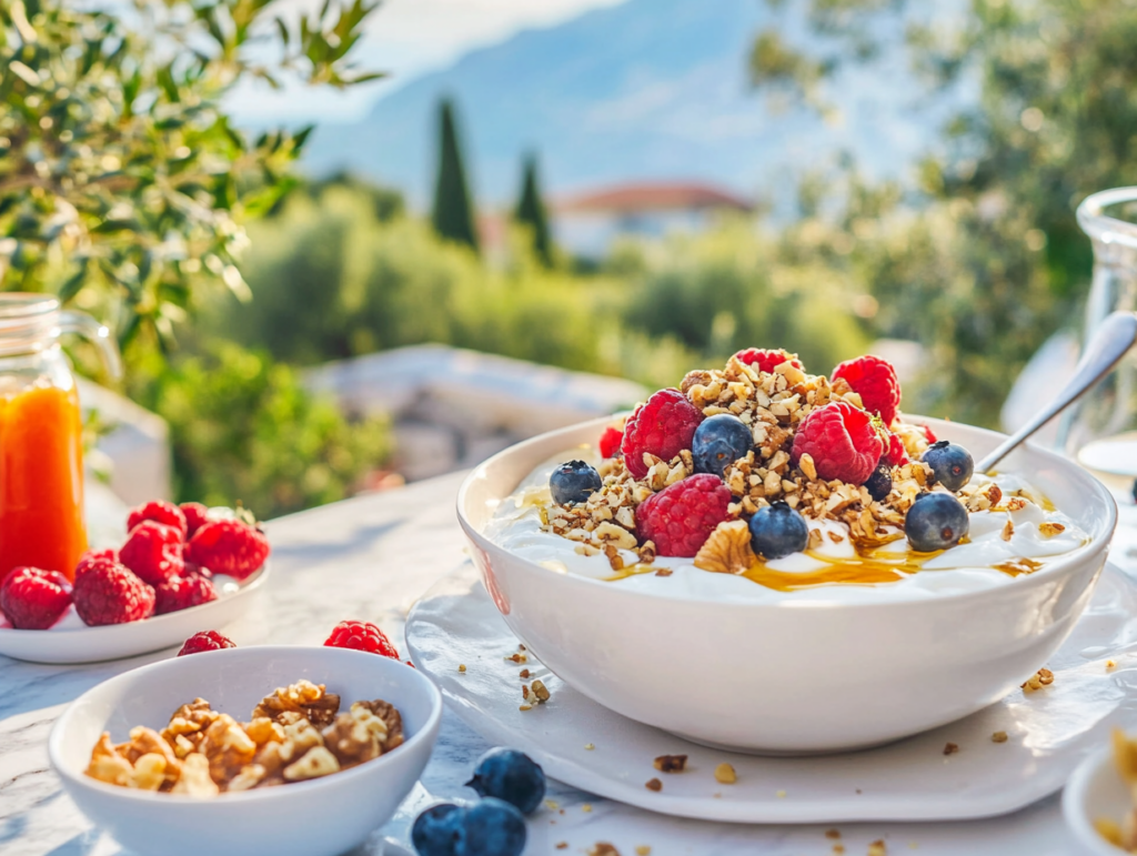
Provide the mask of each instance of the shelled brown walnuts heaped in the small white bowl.
{"label": "shelled brown walnuts heaped in the small white bowl", "polygon": [[402,745],[402,717],[387,701],[347,710],[322,683],[300,680],[265,696],[238,722],[204,698],[177,708],[161,731],[143,725],[113,743],[103,732],[86,774],[140,790],[216,797],[319,779]]}

